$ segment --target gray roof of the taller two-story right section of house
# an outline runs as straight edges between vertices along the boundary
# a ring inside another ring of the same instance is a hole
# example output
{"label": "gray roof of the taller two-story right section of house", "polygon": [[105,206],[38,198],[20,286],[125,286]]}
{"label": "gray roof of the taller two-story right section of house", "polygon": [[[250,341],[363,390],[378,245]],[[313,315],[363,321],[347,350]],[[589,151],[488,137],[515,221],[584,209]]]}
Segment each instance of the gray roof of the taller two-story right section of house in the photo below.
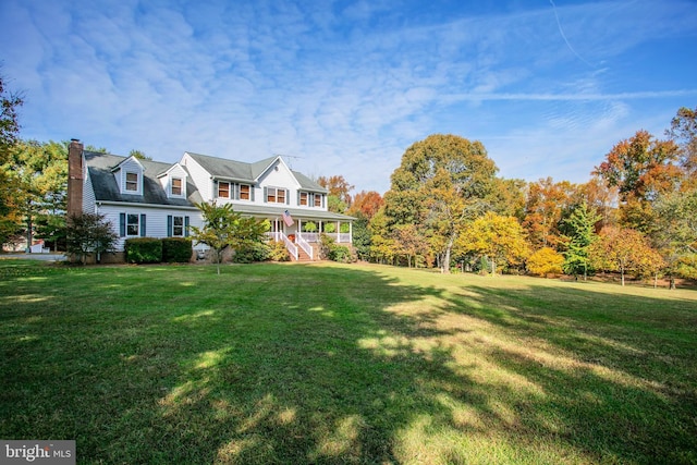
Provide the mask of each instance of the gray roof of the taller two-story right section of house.
{"label": "gray roof of the taller two-story right section of house", "polygon": [[[257,179],[279,158],[279,156],[276,156],[255,161],[254,163],[246,163],[244,161],[225,160],[224,158],[193,154],[191,151],[187,151],[187,154],[215,178],[246,181],[250,184],[256,183]],[[292,170],[291,172],[299,183],[302,189],[325,194],[328,192],[305,174]]]}

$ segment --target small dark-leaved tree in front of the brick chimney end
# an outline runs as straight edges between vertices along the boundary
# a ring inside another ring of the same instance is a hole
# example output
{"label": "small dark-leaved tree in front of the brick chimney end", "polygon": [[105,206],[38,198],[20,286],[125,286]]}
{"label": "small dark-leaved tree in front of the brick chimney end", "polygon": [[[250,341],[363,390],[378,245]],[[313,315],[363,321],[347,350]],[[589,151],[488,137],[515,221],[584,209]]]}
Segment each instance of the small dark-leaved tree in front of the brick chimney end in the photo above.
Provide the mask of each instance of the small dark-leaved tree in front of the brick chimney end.
{"label": "small dark-leaved tree in front of the brick chimney end", "polygon": [[112,252],[119,235],[103,215],[71,215],[68,218],[66,248],[68,253],[77,256],[84,265],[89,254],[97,255],[97,262],[105,252]]}

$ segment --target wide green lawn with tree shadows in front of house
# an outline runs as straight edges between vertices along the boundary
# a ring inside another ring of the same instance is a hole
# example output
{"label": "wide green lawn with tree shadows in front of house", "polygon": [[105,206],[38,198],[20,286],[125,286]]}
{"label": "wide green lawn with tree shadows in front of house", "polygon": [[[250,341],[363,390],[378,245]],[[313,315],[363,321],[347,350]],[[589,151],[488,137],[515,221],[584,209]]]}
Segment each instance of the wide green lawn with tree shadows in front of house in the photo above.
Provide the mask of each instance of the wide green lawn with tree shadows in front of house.
{"label": "wide green lawn with tree shadows in front of house", "polygon": [[0,438],[80,463],[697,463],[697,292],[0,260]]}

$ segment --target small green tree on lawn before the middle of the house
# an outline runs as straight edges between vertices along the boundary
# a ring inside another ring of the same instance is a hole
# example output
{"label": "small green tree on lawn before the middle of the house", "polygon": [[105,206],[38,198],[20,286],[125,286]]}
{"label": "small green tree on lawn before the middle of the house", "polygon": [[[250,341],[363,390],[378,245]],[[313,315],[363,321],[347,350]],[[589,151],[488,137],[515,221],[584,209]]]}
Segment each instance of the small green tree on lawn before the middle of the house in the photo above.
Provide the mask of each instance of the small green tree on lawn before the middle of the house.
{"label": "small green tree on lawn before the middle of the house", "polygon": [[204,216],[203,228],[192,227],[192,238],[208,245],[213,250],[216,267],[220,274],[223,252],[228,248],[249,247],[261,242],[269,230],[268,221],[243,218],[233,210],[231,204],[196,204]]}

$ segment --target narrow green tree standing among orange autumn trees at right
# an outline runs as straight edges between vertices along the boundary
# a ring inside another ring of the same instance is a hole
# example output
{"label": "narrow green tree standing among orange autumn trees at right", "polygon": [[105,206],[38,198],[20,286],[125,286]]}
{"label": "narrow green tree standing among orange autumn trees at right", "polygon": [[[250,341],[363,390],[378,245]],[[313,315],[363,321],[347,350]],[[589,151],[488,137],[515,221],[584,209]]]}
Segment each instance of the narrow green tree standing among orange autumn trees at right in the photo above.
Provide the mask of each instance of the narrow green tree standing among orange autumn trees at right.
{"label": "narrow green tree standing among orange autumn trees at right", "polygon": [[598,237],[596,223],[600,219],[600,215],[595,209],[589,209],[584,201],[563,221],[563,229],[567,237],[563,269],[567,274],[577,277],[583,273],[584,281],[587,279],[590,266],[590,246]]}

